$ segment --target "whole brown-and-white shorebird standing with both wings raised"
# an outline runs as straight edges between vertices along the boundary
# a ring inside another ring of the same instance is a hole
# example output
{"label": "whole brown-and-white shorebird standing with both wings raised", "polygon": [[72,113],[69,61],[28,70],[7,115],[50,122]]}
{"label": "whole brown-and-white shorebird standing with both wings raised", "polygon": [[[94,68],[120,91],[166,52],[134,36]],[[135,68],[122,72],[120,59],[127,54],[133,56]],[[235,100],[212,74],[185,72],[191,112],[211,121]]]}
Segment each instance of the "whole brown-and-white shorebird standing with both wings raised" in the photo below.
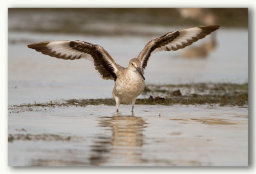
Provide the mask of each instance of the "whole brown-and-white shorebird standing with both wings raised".
{"label": "whole brown-and-white shorebird standing with both wings raised", "polygon": [[216,31],[219,27],[220,25],[205,25],[164,34],[149,41],[138,57],[129,61],[127,68],[117,64],[104,48],[85,41],[44,41],[33,43],[28,47],[59,59],[85,58],[92,60],[95,69],[103,79],[115,80],[112,94],[116,101],[116,112],[118,112],[120,103],[131,103],[133,112],[136,99],[144,91],[145,77],[143,74],[152,53],[175,51],[187,47]]}

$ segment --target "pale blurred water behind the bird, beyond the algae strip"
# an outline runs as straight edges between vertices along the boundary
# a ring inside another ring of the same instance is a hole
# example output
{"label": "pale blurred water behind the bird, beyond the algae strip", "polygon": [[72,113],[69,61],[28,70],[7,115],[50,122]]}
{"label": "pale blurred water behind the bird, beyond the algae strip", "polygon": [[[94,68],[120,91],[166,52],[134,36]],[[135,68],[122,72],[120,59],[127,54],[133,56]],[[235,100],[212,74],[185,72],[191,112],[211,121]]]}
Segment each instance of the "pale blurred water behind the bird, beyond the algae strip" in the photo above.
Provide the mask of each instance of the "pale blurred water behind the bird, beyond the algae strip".
{"label": "pale blurred water behind the bird, beyond the algae strip", "polygon": [[[29,43],[47,40],[83,40],[97,43],[104,47],[118,64],[127,66],[129,60],[137,57],[145,44],[156,37],[95,37],[10,32],[9,105],[54,99],[112,97],[113,82],[100,79],[92,62],[54,59],[29,49],[26,47]],[[209,40],[210,37],[207,37],[190,48],[200,47]],[[11,41],[21,42],[11,44]],[[216,33],[216,42],[216,48],[207,57],[200,59],[181,57],[182,51],[188,48],[153,54],[145,71],[146,83],[248,82],[248,31],[220,28]]]}

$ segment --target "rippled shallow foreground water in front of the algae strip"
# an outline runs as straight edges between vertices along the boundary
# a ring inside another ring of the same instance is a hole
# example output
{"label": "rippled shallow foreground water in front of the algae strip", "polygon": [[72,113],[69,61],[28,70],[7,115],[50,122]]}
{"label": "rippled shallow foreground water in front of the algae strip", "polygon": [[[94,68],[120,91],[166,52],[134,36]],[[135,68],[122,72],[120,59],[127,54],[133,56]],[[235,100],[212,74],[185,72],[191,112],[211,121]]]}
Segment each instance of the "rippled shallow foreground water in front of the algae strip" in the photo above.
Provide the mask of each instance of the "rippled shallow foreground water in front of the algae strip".
{"label": "rippled shallow foreground water in front of the algae strip", "polygon": [[248,108],[8,110],[9,166],[247,166]]}

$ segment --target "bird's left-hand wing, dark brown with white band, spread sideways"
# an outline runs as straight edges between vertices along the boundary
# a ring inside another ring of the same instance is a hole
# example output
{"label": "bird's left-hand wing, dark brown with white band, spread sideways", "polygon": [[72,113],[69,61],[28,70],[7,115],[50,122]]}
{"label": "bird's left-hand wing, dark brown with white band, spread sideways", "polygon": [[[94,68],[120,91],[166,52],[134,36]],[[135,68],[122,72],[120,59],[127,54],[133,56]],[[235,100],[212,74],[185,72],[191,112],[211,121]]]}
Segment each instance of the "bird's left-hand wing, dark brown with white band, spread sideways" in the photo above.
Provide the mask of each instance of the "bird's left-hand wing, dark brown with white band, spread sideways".
{"label": "bird's left-hand wing, dark brown with white band, spread sideways", "polygon": [[95,69],[106,80],[116,80],[118,69],[122,68],[104,48],[84,41],[44,41],[28,47],[59,59],[90,59],[94,62]]}

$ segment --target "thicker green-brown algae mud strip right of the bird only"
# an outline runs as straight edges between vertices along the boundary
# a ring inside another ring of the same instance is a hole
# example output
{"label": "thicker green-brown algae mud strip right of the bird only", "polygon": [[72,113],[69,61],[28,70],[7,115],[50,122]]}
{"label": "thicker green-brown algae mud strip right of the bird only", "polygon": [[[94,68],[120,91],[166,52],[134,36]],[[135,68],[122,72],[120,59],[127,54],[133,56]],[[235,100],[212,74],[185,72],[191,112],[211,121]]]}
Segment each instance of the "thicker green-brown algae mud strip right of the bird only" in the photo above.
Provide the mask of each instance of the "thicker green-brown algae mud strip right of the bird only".
{"label": "thicker green-brown algae mud strip right of the bird only", "polygon": [[[182,92],[180,92],[182,91]],[[144,96],[162,96],[163,99],[137,99],[142,105],[220,105],[248,106],[248,83],[190,83],[178,85],[147,85]],[[183,94],[183,95],[182,95]]]}

